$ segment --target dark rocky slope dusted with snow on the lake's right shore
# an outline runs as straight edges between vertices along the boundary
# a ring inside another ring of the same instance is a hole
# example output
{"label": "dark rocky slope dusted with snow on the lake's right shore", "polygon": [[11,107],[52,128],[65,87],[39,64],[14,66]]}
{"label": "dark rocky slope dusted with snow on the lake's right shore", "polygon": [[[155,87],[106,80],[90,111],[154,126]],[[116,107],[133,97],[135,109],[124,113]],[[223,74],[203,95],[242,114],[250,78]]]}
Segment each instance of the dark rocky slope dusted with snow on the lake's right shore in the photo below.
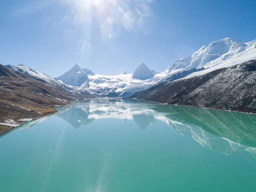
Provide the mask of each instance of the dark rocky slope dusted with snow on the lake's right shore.
{"label": "dark rocky slope dusted with snow on the lake's right shore", "polygon": [[157,84],[132,97],[171,105],[256,113],[256,60]]}

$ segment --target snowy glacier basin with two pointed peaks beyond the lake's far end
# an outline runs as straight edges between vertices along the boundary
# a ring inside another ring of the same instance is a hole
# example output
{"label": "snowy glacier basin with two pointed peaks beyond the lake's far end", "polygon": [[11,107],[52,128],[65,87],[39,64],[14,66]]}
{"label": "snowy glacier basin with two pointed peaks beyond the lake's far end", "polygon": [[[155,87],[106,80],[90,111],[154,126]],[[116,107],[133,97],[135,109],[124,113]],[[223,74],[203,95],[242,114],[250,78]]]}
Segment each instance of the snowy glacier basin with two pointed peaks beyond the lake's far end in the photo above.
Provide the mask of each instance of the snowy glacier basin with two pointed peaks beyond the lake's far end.
{"label": "snowy glacier basin with two pointed peaks beyond the lake's far end", "polygon": [[56,79],[65,84],[72,85],[76,90],[87,90],[97,96],[127,97],[157,83],[157,81],[145,80],[151,79],[154,74],[156,72],[150,70],[144,63],[133,74],[128,74],[124,71],[117,76],[102,76],[93,73],[91,70],[82,69],[79,65],[75,65],[67,73]]}

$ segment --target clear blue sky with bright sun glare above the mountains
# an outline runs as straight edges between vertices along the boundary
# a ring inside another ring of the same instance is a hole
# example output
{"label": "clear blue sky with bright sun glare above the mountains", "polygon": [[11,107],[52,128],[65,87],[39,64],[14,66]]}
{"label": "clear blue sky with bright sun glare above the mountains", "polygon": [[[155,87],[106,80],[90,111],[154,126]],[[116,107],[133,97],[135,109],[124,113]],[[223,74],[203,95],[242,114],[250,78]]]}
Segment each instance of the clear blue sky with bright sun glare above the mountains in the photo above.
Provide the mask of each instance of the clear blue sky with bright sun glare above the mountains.
{"label": "clear blue sky with bright sun glare above the mountains", "polygon": [[256,39],[255,0],[1,0],[0,63],[56,77],[142,62],[162,72],[210,42]]}

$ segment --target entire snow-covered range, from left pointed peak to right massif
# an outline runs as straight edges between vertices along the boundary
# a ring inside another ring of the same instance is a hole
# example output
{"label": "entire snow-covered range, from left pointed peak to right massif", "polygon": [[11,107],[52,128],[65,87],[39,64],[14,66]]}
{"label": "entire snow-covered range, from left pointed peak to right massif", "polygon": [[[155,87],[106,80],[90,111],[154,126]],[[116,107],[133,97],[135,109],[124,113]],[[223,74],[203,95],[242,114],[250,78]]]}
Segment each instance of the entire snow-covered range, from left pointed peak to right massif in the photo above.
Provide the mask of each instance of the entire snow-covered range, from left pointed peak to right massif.
{"label": "entire snow-covered range, from left pointed peak to right massif", "polygon": [[214,41],[207,47],[203,46],[190,56],[174,61],[162,73],[156,73],[143,63],[133,74],[124,71],[117,76],[102,76],[75,65],[70,71],[56,79],[75,86],[77,90],[87,90],[97,96],[128,97],[138,91],[148,89],[160,81],[164,82],[166,79],[169,81],[180,79],[189,75],[190,72],[198,72],[203,69],[206,69],[204,73],[209,73],[212,70],[256,59],[255,47],[256,40],[244,43],[234,38],[225,38]]}

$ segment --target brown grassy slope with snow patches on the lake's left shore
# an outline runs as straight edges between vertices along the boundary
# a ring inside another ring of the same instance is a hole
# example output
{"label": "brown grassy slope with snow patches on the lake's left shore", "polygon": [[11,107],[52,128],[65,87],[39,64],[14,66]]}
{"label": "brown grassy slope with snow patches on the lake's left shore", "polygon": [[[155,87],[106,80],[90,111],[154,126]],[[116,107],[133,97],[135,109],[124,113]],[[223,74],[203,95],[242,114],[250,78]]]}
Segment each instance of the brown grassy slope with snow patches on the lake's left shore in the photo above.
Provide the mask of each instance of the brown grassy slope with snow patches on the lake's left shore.
{"label": "brown grassy slope with snow patches on the lake's left shore", "polygon": [[93,97],[35,70],[26,70],[26,66],[0,64],[0,134],[24,121],[55,113],[57,105]]}

